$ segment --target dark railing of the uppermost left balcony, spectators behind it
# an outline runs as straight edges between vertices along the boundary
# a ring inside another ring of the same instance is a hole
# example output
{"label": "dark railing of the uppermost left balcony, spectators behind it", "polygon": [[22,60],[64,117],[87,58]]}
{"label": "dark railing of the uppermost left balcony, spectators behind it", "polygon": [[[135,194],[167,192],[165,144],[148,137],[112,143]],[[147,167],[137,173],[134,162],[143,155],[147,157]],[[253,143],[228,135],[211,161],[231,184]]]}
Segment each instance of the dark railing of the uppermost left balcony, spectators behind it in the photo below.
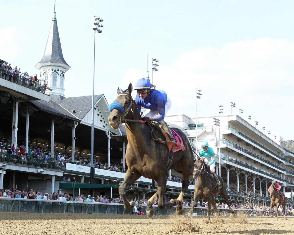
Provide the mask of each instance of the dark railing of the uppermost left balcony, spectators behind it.
{"label": "dark railing of the uppermost left balcony, spectators behind it", "polygon": [[49,87],[43,87],[45,81],[42,79],[38,79],[38,81],[32,81],[30,78],[26,78],[23,73],[18,73],[16,75],[14,73],[9,73],[4,68],[0,68],[0,78],[50,96],[51,89]]}

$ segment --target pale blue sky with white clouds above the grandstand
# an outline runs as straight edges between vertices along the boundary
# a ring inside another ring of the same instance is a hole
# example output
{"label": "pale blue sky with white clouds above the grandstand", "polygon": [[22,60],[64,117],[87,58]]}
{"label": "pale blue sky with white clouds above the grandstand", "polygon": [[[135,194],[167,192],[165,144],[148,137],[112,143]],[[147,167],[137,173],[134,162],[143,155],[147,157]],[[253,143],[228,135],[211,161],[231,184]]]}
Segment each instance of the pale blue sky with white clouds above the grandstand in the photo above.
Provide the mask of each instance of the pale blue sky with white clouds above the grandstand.
{"label": "pale blue sky with white clouds above the grandstand", "polygon": [[[242,108],[252,124],[259,121],[258,129],[264,125],[273,135],[293,139],[293,6],[293,1],[57,0],[61,46],[71,66],[65,95],[91,95],[93,16],[99,15],[104,27],[96,35],[95,94],[104,93],[108,103],[118,86],[125,89],[146,76],[148,53],[159,59],[154,83],[172,100],[168,114],[194,117],[198,87],[199,116],[217,115],[219,103],[228,114],[233,101],[234,113]],[[34,66],[44,53],[54,1],[5,1],[1,9],[9,9],[1,11],[1,59],[39,74]]]}

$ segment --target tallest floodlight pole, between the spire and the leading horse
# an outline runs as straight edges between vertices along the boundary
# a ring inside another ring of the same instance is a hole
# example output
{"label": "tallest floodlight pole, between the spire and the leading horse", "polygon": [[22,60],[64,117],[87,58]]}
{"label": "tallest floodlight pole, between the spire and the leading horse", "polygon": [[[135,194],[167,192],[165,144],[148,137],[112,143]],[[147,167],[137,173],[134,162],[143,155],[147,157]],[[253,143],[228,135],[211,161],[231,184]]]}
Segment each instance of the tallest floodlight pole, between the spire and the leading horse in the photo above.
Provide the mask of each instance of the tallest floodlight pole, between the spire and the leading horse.
{"label": "tallest floodlight pole, between the spire and the leading horse", "polygon": [[103,27],[100,23],[103,21],[99,16],[94,16],[94,61],[93,61],[93,95],[92,95],[92,115],[91,115],[91,169],[90,169],[90,183],[93,184],[93,159],[94,159],[94,85],[95,85],[95,39],[96,32],[102,33],[102,30],[99,29]]}

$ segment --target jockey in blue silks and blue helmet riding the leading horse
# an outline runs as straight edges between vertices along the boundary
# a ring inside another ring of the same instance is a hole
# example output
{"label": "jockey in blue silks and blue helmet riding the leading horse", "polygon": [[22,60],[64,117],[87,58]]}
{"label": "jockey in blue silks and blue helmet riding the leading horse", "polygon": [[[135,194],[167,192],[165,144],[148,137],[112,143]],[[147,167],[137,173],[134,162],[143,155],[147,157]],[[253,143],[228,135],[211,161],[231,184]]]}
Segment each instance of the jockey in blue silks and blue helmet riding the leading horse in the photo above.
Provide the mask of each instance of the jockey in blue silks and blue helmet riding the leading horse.
{"label": "jockey in blue silks and blue helmet riding the leading horse", "polygon": [[167,111],[171,108],[171,100],[167,97],[166,93],[163,90],[156,90],[147,78],[139,79],[135,85],[135,90],[137,90],[135,103],[139,114],[141,113],[141,107],[150,109],[142,120],[156,121],[162,125],[163,130],[169,139],[174,142],[174,146],[176,146],[176,140],[173,138],[171,130],[166,122],[163,121]]}

